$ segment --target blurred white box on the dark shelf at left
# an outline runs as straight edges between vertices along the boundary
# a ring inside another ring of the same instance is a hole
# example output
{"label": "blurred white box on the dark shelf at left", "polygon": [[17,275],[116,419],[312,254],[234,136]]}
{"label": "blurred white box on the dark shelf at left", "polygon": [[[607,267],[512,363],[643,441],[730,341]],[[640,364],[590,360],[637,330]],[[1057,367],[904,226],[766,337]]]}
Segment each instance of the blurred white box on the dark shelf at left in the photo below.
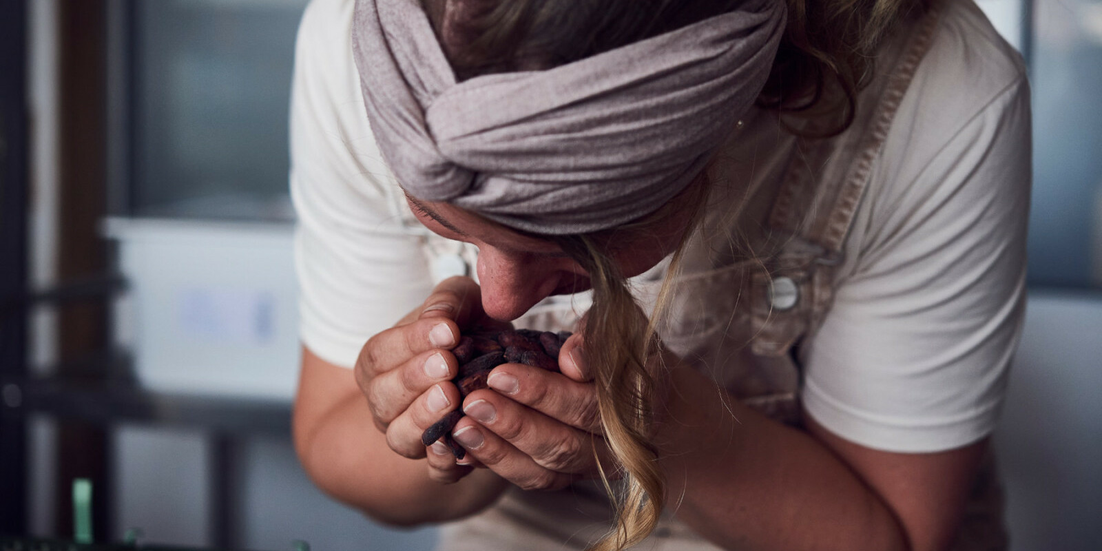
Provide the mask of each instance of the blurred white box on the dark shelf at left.
{"label": "blurred white box on the dark shelf at left", "polygon": [[130,284],[116,338],[132,343],[143,386],[293,397],[300,352],[290,225],[112,219],[107,233],[119,240]]}

